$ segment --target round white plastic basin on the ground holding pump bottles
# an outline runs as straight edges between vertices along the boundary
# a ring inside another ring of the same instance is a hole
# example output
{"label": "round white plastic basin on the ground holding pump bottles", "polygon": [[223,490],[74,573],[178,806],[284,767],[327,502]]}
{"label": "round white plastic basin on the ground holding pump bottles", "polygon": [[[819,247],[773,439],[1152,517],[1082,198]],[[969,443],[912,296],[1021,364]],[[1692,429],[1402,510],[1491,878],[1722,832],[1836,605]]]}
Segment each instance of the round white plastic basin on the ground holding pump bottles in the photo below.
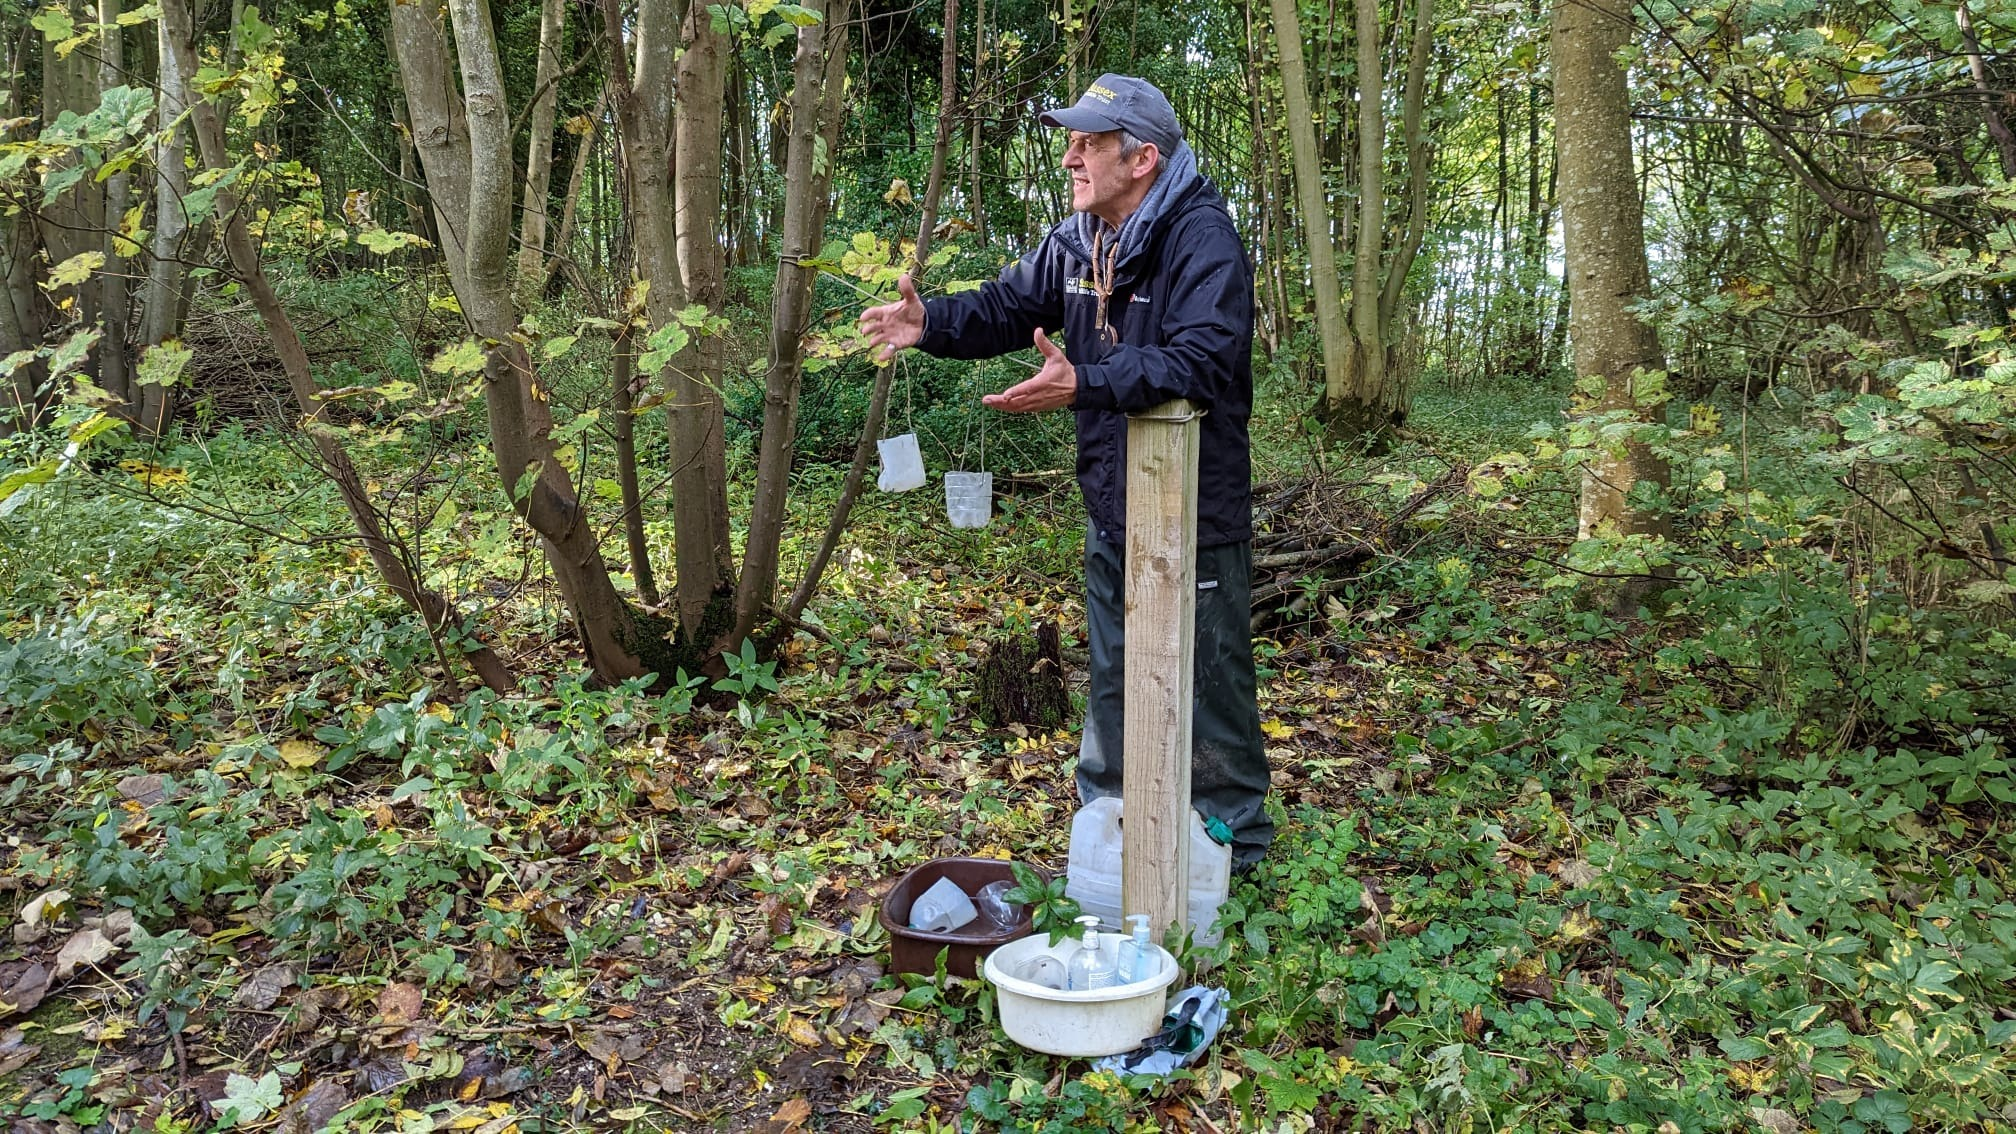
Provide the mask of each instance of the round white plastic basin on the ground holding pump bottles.
{"label": "round white plastic basin on the ground holding pump bottles", "polygon": [[988,954],[984,975],[994,985],[994,1003],[1000,1005],[1002,1031],[1008,1039],[1046,1055],[1095,1059],[1133,1051],[1143,1039],[1161,1031],[1167,991],[1181,969],[1159,944],[1155,956],[1161,969],[1155,977],[1115,989],[1060,993],[1010,977],[1038,952],[1062,962],[1077,948],[1079,942],[1070,938],[1052,946],[1050,934],[1034,934],[1010,940]]}

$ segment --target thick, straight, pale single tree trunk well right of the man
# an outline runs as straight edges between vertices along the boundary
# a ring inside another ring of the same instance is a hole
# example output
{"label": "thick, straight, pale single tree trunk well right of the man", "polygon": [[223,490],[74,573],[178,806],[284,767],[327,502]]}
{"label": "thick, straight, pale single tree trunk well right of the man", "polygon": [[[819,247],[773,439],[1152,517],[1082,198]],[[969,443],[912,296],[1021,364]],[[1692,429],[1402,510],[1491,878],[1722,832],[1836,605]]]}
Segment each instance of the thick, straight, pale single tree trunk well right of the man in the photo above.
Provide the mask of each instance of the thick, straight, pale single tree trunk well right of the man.
{"label": "thick, straight, pale single tree trunk well right of the man", "polygon": [[[1663,359],[1659,337],[1629,311],[1651,291],[1651,270],[1629,91],[1615,59],[1633,30],[1629,0],[1554,0],[1554,145],[1577,383],[1597,389],[1589,410],[1647,420],[1657,406],[1639,404],[1637,377]],[[1663,462],[1643,444],[1601,456],[1583,476],[1579,535],[1661,535],[1665,517],[1627,500],[1641,480],[1665,484]]]}

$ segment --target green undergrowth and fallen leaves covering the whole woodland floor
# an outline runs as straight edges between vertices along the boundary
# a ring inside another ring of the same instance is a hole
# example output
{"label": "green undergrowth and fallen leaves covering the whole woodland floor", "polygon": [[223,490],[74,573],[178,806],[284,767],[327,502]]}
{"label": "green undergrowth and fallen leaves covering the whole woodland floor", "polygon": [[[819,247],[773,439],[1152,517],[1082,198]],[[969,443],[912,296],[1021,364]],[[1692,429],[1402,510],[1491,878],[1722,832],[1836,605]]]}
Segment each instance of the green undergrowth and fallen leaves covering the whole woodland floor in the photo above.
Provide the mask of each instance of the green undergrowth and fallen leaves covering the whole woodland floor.
{"label": "green undergrowth and fallen leaves covering the whole woodland floor", "polygon": [[[1514,393],[1423,391],[1421,436],[1329,462],[1345,515],[1558,410]],[[256,432],[157,462],[335,523]],[[1062,868],[1075,736],[986,730],[972,696],[998,636],[1058,619],[1085,648],[1068,490],[984,533],[871,494],[825,640],[669,688],[593,688],[534,581],[482,615],[524,688],[456,698],[343,545],[56,480],[0,519],[0,803],[10,912],[73,898],[0,981],[85,918],[137,928],[0,1021],[40,1043],[0,1108],[208,1130],[317,1088],[355,1130],[2006,1128],[2010,628],[1851,573],[1826,482],[1764,472],[1746,513],[1689,513],[1643,617],[1558,585],[1572,494],[1536,466],[1462,480],[1258,642],[1282,841],[1193,956],[1232,1025],[1167,1084],[1020,1051],[982,985],[877,965],[901,870]],[[786,565],[837,480],[804,474]],[[486,531],[444,539],[466,597],[528,553]]]}

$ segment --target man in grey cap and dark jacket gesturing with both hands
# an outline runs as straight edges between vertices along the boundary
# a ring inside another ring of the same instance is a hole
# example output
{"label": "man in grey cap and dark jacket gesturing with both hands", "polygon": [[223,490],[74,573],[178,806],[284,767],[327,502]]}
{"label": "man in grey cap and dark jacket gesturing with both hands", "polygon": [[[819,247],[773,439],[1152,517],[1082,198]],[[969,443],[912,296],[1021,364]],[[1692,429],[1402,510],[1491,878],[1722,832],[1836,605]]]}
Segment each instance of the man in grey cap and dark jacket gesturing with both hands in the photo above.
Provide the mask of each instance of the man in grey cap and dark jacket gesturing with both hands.
{"label": "man in grey cap and dark jacket gesturing with both hands", "polygon": [[[1079,797],[1121,793],[1127,414],[1187,398],[1206,410],[1198,458],[1198,644],[1191,801],[1232,831],[1236,868],[1274,837],[1254,698],[1252,615],[1252,266],[1232,214],[1183,141],[1161,91],[1103,75],[1077,105],[1042,115],[1068,129],[1073,216],[980,291],[901,301],[861,315],[879,359],[905,347],[984,359],[1030,343],[1042,369],[984,404],[1079,416],[1091,700]],[[1064,349],[1044,329],[1062,329]]]}

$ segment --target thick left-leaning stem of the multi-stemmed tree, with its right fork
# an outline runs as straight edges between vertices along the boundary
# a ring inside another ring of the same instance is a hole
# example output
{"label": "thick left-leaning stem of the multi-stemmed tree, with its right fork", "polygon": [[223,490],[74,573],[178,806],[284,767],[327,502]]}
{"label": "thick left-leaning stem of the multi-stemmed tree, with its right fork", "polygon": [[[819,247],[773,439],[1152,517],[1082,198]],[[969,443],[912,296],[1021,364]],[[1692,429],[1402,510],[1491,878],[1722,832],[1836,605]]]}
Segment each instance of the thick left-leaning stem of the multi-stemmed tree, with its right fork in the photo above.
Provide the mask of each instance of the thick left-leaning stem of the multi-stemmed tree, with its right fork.
{"label": "thick left-leaning stem of the multi-stemmed tree, with its right fork", "polygon": [[[595,525],[552,444],[550,395],[532,373],[532,357],[516,337],[518,311],[510,297],[510,113],[490,12],[484,0],[454,0],[450,18],[462,69],[470,155],[466,228],[460,238],[468,260],[462,268],[464,287],[456,295],[488,355],[484,404],[498,476],[512,506],[546,545],[546,561],[597,676],[643,676],[651,670],[643,660],[651,652],[651,636],[637,611],[617,595],[597,547]],[[413,101],[411,89],[407,101]],[[435,200],[439,192],[435,186]]]}

